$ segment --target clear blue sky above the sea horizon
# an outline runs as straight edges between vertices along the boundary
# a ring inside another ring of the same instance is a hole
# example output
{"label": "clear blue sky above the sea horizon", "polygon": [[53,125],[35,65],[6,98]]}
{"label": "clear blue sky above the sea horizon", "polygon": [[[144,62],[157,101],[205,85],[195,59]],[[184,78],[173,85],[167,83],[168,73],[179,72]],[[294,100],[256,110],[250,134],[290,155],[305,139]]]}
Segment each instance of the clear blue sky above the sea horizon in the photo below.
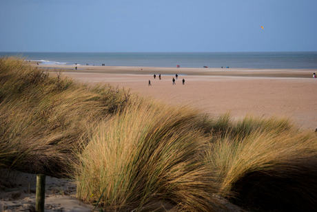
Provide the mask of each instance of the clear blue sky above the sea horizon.
{"label": "clear blue sky above the sea horizon", "polygon": [[0,20],[0,52],[317,51],[317,0],[0,0]]}

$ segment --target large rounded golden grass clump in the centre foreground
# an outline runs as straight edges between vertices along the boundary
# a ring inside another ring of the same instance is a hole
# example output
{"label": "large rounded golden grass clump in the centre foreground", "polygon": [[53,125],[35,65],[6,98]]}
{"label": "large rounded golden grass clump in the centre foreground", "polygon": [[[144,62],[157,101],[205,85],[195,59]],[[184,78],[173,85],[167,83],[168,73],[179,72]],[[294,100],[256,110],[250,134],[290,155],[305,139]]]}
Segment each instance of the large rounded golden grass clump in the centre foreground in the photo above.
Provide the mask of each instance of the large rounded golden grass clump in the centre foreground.
{"label": "large rounded golden grass clump in the centre foreground", "polygon": [[107,211],[147,210],[156,202],[213,211],[218,188],[203,165],[207,138],[196,112],[135,103],[101,125],[79,156],[79,198]]}

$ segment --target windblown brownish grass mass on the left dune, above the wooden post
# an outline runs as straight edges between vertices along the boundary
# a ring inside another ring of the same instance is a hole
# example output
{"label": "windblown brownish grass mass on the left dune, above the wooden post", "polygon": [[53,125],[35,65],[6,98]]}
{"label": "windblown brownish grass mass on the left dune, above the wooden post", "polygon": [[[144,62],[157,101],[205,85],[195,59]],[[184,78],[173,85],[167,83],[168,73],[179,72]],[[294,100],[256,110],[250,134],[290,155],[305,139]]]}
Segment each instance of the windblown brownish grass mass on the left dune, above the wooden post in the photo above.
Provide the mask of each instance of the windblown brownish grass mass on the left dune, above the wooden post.
{"label": "windblown brownish grass mass on the left dune, above the wooden post", "polygon": [[129,98],[122,89],[88,87],[21,59],[0,59],[0,166],[69,172],[72,150],[87,138],[90,126]]}

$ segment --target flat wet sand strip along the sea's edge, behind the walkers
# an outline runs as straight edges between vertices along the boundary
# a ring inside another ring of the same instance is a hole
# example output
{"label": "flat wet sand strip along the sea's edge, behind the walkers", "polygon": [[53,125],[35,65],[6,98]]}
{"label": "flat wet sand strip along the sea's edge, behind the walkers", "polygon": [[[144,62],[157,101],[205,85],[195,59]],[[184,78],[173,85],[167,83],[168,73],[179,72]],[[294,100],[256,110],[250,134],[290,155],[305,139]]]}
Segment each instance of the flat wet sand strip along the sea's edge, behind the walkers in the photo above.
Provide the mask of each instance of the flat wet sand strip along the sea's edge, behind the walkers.
{"label": "flat wet sand strip along the sea's edge, behind the walkers", "polygon": [[[61,69],[67,72],[99,74],[186,74],[187,76],[256,76],[256,77],[294,77],[312,78],[317,69],[254,69],[254,68],[221,68],[221,67],[142,67],[142,66],[101,66],[101,65],[32,65]],[[77,69],[75,68],[77,67]]]}

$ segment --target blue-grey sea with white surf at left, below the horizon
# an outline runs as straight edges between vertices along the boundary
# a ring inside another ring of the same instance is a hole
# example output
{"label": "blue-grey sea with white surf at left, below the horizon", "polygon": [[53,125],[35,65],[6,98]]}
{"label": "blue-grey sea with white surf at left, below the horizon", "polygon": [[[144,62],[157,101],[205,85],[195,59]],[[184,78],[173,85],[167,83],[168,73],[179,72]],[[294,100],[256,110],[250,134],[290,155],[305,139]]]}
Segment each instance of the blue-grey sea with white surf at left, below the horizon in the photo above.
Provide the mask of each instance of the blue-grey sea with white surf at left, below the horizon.
{"label": "blue-grey sea with white surf at left, below the horizon", "polygon": [[317,52],[0,52],[60,65],[317,69]]}

